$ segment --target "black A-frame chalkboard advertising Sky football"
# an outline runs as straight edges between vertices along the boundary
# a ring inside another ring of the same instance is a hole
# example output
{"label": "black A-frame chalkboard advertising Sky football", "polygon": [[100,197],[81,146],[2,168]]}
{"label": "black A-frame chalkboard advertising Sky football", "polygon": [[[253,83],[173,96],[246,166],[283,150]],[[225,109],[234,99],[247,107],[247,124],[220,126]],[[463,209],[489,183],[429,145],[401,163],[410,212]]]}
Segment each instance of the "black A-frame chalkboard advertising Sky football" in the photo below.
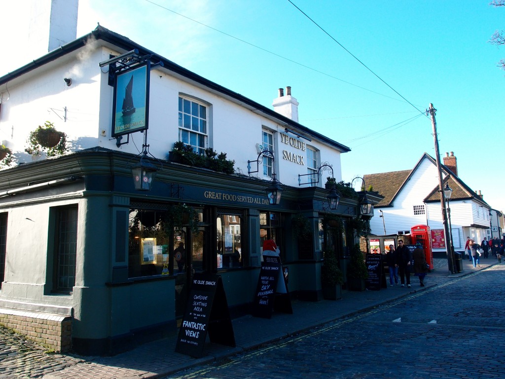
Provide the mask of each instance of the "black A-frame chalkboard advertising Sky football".
{"label": "black A-frame chalkboard advertising Sky football", "polygon": [[264,255],[252,304],[252,315],[271,318],[274,310],[293,313],[281,259],[278,256]]}

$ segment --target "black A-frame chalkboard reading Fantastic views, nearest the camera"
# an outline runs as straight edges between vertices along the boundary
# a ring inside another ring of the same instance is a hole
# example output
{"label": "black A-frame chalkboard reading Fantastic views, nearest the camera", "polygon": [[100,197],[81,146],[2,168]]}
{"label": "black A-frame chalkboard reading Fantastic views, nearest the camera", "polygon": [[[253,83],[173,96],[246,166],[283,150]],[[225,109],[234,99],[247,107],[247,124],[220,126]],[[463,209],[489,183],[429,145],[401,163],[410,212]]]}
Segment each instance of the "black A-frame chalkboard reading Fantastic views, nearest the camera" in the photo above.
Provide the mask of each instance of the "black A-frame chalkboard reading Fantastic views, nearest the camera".
{"label": "black A-frame chalkboard reading Fantastic views, nearest the camera", "polygon": [[221,276],[195,273],[175,351],[195,358],[202,357],[207,333],[211,342],[235,347]]}

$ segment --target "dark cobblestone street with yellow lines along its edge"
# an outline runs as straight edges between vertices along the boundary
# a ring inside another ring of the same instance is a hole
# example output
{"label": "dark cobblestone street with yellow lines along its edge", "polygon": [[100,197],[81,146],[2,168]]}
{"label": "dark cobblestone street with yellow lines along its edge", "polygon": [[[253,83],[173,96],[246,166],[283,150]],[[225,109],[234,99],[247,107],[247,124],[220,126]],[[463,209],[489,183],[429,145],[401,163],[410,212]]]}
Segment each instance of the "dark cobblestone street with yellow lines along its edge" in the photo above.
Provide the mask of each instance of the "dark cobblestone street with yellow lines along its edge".
{"label": "dark cobblestone street with yellow lines along its edge", "polygon": [[[503,266],[169,378],[503,377]],[[414,285],[415,281],[413,281]]]}

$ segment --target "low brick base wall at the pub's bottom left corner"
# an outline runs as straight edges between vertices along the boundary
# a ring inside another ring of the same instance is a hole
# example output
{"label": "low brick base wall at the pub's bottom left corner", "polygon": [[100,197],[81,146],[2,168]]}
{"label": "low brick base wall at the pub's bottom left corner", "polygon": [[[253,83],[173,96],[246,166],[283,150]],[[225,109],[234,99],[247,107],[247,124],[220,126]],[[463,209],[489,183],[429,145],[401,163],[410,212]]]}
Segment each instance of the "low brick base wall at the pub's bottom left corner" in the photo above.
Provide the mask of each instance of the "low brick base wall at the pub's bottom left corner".
{"label": "low brick base wall at the pub's bottom left corner", "polygon": [[0,308],[0,324],[57,352],[72,347],[72,317]]}

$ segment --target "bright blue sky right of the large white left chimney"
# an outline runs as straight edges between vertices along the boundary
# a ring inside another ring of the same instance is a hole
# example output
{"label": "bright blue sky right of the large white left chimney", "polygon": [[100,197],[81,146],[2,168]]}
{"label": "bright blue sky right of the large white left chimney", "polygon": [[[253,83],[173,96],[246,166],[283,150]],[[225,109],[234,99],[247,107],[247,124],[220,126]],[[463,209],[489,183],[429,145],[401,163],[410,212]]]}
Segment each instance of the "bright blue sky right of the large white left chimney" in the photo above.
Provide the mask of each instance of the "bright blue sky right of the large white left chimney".
{"label": "bright blue sky right of the large white left chimney", "polygon": [[505,210],[505,71],[497,67],[505,46],[488,43],[505,29],[505,7],[291,1],[324,31],[288,0],[80,0],[77,34],[99,22],[267,107],[291,86],[300,123],[351,148],[342,155],[346,181],[434,156],[424,115],[433,103],[441,155],[454,152],[459,176]]}

